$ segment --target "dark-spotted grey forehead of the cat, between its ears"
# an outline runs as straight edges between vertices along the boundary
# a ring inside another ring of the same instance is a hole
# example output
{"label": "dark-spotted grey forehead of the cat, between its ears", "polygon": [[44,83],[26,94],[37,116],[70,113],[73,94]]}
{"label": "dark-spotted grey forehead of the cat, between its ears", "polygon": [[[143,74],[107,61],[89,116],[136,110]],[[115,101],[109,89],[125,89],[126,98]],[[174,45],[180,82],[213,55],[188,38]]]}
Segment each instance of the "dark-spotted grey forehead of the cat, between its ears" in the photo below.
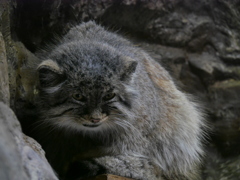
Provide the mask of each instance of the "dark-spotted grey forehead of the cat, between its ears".
{"label": "dark-spotted grey forehead of the cat, between its ears", "polygon": [[[84,52],[84,53],[83,53]],[[65,71],[66,74],[78,79],[79,77],[111,78],[119,74],[122,67],[120,56],[117,54],[100,52],[88,53],[79,49],[76,51],[61,51],[50,57]]]}

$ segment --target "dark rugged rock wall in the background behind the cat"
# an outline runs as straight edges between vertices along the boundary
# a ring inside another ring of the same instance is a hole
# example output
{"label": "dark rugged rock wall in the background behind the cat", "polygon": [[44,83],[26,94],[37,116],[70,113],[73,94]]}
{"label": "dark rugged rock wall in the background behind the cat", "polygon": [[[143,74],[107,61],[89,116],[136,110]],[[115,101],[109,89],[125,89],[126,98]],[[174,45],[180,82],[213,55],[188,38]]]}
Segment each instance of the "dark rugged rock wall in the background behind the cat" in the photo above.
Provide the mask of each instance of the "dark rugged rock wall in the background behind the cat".
{"label": "dark rugged rock wall in the background behind the cat", "polygon": [[[10,16],[2,13],[0,4],[0,19],[11,19],[7,27],[11,28],[13,39],[22,42],[33,53],[49,43],[54,34],[61,36],[72,25],[88,20],[95,20],[113,31],[118,30],[148,51],[166,66],[179,87],[195,95],[206,110],[212,133],[206,144],[203,179],[238,179],[238,0],[14,0],[10,4]],[[0,63],[6,54],[8,64],[12,65],[8,68],[11,101],[5,93],[8,92],[7,87],[2,84],[0,99],[5,103],[9,101],[14,109],[16,101],[28,97],[24,88],[20,88],[25,87],[24,82],[16,78],[16,74],[22,71],[22,62],[31,55],[26,55],[30,52],[25,48],[17,48],[18,52],[14,52],[12,46],[15,45],[11,38],[9,40],[9,34],[3,33],[6,52],[0,48]],[[3,43],[0,46],[3,47]],[[19,56],[23,51],[24,55]],[[0,79],[1,83],[7,82],[4,71],[1,69],[0,72],[0,78],[4,77],[3,81]],[[6,87],[4,91],[2,87]]]}

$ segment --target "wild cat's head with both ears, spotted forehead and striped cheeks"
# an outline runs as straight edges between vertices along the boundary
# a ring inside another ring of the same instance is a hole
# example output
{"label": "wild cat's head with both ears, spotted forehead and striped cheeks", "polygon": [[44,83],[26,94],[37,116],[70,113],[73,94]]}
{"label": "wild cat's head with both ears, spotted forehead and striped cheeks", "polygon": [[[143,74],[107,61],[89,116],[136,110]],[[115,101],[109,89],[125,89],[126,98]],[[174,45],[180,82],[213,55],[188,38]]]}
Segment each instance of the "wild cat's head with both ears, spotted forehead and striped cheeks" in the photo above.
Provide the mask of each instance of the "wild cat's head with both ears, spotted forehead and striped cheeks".
{"label": "wild cat's head with both ears, spotted forehead and striped cheeks", "polygon": [[59,57],[70,56],[58,54],[51,57],[55,61],[39,65],[39,104],[45,121],[83,132],[127,127],[134,97],[130,81],[137,63],[106,50],[97,52],[105,53],[104,60],[102,55],[89,59],[71,54],[78,59],[62,62]]}

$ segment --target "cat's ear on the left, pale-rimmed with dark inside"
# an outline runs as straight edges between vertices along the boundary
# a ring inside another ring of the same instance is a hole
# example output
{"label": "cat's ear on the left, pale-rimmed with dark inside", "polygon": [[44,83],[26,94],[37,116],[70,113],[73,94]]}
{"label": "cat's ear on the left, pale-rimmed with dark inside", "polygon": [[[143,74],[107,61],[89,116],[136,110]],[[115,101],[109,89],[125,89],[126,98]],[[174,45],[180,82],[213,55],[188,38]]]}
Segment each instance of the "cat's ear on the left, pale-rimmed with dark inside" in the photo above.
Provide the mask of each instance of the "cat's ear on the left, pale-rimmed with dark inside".
{"label": "cat's ear on the left, pale-rimmed with dark inside", "polygon": [[61,68],[51,59],[43,61],[37,70],[42,87],[53,87],[66,79]]}

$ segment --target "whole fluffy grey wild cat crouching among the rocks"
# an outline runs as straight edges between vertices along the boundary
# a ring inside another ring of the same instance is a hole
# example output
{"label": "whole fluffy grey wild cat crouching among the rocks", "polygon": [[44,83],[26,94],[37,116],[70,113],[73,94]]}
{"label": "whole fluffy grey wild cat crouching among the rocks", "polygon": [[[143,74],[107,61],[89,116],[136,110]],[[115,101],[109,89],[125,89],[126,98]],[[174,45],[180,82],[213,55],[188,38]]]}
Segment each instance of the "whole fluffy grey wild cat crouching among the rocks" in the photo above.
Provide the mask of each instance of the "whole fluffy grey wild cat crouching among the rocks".
{"label": "whole fluffy grey wild cat crouching among the rocks", "polygon": [[106,173],[139,180],[198,178],[201,108],[147,53],[88,22],[41,59],[33,131],[57,172],[94,159]]}

